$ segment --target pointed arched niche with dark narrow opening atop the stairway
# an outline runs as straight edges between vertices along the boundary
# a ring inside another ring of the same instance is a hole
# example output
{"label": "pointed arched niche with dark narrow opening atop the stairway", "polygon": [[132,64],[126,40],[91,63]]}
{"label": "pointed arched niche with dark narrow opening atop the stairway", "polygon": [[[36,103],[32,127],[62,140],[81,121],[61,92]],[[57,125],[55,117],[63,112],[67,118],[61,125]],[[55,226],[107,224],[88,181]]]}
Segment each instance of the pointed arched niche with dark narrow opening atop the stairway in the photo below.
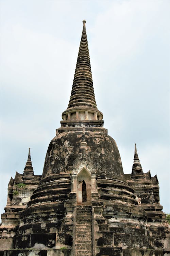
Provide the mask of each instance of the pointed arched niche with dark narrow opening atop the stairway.
{"label": "pointed arched niche with dark narrow opening atop the stairway", "polygon": [[91,204],[91,174],[85,168],[77,174],[77,204]]}

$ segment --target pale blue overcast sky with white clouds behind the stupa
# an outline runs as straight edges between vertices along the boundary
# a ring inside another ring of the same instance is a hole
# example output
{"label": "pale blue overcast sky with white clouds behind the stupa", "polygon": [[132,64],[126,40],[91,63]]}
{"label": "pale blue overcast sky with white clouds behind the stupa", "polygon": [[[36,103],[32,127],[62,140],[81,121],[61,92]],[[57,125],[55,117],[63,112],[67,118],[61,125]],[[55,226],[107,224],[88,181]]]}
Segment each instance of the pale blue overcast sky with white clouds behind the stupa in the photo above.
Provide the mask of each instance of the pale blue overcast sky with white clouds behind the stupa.
{"label": "pale blue overcast sky with white clouds behind the stupa", "polygon": [[124,173],[136,143],[170,212],[169,12],[170,1],[1,0],[1,213],[29,147],[34,173],[42,174],[68,106],[83,19],[97,107]]}

